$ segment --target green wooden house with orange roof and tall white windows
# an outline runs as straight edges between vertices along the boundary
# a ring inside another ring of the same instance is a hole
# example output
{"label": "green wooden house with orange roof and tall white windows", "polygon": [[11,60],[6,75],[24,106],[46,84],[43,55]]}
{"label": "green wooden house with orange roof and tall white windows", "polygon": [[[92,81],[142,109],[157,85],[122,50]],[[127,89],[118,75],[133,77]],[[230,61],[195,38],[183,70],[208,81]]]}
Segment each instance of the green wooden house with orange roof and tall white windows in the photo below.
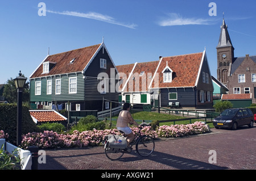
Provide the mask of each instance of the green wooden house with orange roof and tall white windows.
{"label": "green wooden house with orange roof and tall white windows", "polygon": [[106,100],[118,102],[117,74],[103,42],[48,55],[30,76],[30,103],[59,110],[68,110],[68,103],[70,111],[106,110]]}

